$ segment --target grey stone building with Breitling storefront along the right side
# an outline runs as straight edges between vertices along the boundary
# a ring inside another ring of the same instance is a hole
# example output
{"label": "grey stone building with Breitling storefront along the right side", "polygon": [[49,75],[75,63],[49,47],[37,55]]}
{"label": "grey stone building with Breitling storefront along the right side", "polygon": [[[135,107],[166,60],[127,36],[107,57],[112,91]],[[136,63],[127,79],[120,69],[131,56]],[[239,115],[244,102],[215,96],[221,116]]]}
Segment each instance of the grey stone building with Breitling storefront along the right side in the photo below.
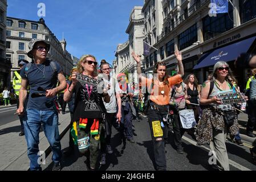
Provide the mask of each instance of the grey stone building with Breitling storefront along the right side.
{"label": "grey stone building with Breitling storefront along the right side", "polygon": [[[160,2],[162,6],[159,7],[161,9],[159,11],[162,11],[162,19],[160,16],[156,16],[156,19],[161,19],[159,22],[162,21],[162,27],[160,26],[162,30],[155,42],[154,36],[153,40],[151,38],[151,41],[148,41],[158,51],[151,48],[151,54],[145,57],[147,71],[151,71],[157,61],[165,61],[170,74],[177,68],[174,50],[178,49],[182,52],[185,76],[194,73],[198,80],[203,82],[213,71],[213,65],[200,68],[196,65],[205,61],[207,54],[218,50],[220,55],[234,54],[235,52],[231,51],[222,52],[221,48],[227,49],[228,46],[245,42],[250,44],[247,45],[249,48],[245,49],[245,52],[255,52],[256,1],[233,0],[231,2],[234,6],[229,3],[228,13],[216,14],[216,16],[209,15],[210,0],[156,0],[155,5],[159,5]],[[145,7],[147,3],[150,2],[145,1]],[[148,14],[146,8],[144,13]],[[146,35],[145,40],[147,39],[149,36]],[[234,68],[234,59],[230,59],[224,58],[224,61]],[[238,85],[242,88],[248,72],[246,70],[235,73]]]}

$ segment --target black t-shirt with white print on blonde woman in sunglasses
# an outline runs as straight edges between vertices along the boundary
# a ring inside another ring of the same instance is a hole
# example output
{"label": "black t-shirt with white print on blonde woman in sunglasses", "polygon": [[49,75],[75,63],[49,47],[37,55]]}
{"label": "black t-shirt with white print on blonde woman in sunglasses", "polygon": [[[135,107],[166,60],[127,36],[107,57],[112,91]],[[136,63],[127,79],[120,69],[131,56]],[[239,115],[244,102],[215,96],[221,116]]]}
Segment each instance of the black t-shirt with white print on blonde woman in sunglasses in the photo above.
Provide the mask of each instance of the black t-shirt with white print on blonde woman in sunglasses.
{"label": "black t-shirt with white print on blonde woman in sunglasses", "polygon": [[102,118],[102,113],[107,110],[103,104],[103,94],[98,92],[102,80],[79,74],[79,80],[74,88],[75,108],[72,121],[79,121],[80,118]]}

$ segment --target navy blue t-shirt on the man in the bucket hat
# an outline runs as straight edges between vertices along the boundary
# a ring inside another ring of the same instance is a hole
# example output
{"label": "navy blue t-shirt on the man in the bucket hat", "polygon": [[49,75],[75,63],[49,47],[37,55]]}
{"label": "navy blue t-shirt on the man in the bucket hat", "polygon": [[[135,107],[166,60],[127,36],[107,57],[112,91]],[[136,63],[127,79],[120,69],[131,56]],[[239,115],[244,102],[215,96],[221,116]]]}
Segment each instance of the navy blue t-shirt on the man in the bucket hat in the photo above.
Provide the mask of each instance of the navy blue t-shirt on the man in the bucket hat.
{"label": "navy blue t-shirt on the man in the bucket hat", "polygon": [[29,101],[27,103],[27,108],[38,109],[38,110],[52,110],[54,109],[53,98],[35,97],[32,98],[32,93],[45,93],[43,91],[38,91],[38,87],[42,87],[45,90],[53,89],[56,87],[58,81],[58,73],[62,71],[59,64],[55,62],[57,71],[50,66],[50,61],[46,60],[43,64],[37,64],[37,67],[32,63],[30,69],[27,71],[27,76],[25,75],[26,65],[21,69],[21,77],[25,78],[29,82]]}

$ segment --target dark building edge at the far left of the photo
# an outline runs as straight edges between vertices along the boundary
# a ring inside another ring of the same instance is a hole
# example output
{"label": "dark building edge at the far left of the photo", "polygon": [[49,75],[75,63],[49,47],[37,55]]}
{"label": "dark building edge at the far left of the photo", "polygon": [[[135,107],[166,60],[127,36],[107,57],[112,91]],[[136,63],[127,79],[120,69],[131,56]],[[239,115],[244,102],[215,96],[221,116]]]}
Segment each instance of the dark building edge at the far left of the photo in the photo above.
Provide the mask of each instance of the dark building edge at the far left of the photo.
{"label": "dark building edge at the far left of the photo", "polygon": [[6,9],[7,1],[0,0],[0,93],[10,88],[11,62],[6,59]]}

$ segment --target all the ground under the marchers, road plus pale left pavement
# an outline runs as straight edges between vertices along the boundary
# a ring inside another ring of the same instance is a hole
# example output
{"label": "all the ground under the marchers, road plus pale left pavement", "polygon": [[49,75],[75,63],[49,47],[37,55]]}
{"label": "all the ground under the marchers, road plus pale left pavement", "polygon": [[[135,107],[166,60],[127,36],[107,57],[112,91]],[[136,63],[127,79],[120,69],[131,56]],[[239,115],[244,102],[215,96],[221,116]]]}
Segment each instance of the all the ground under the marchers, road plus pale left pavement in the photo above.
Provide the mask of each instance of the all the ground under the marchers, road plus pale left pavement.
{"label": "all the ground under the marchers, road plus pale left pavement", "polygon": [[[14,115],[16,106],[0,106],[0,170],[26,171],[29,169],[29,158],[27,158],[27,145],[25,137],[19,137],[20,123],[17,115]],[[13,117],[13,121],[11,118]],[[152,140],[150,137],[147,118],[142,117],[141,122],[133,121],[136,143],[123,143],[120,134],[113,128],[111,145],[113,154],[107,155],[107,164],[100,167],[102,171],[154,171],[154,156]],[[245,135],[247,115],[239,115],[239,124],[242,141],[245,146],[238,146],[227,140],[227,151],[229,152],[231,170],[256,170],[251,161],[249,148],[254,141]],[[59,132],[62,150],[68,147],[68,126],[70,114],[59,114]],[[255,132],[255,131],[254,131]],[[255,132],[256,134],[256,132]],[[39,149],[46,152],[46,164],[42,165],[44,170],[51,170],[51,150],[44,133],[40,132]],[[205,171],[210,170],[208,165],[209,146],[196,146],[196,142],[185,134],[182,138],[184,154],[177,154],[174,150],[173,133],[169,132],[169,140],[166,144],[167,169],[170,171]],[[79,155],[78,150],[71,156],[63,156],[62,164],[64,171],[86,171],[85,156]]]}

